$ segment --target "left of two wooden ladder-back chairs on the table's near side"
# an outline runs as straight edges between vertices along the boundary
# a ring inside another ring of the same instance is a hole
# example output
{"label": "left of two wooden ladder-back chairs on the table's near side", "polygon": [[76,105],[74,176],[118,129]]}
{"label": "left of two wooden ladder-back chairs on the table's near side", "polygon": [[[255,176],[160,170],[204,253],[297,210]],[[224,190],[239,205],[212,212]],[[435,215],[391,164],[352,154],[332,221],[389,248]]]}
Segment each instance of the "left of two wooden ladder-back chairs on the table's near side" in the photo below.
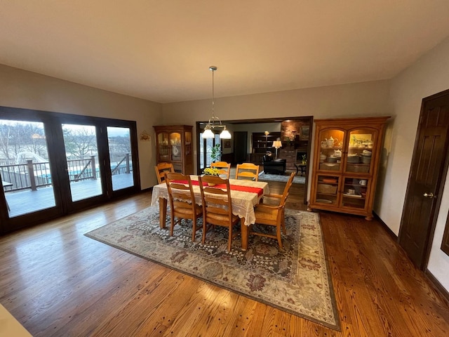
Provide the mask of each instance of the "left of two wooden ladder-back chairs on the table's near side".
{"label": "left of two wooden ladder-back chairs on the table's near side", "polygon": [[202,228],[197,225],[197,220],[203,215],[203,209],[195,203],[192,180],[190,176],[182,173],[168,172],[165,182],[170,201],[170,237],[173,236],[175,225],[182,219],[192,220],[192,241],[194,242],[196,232]]}

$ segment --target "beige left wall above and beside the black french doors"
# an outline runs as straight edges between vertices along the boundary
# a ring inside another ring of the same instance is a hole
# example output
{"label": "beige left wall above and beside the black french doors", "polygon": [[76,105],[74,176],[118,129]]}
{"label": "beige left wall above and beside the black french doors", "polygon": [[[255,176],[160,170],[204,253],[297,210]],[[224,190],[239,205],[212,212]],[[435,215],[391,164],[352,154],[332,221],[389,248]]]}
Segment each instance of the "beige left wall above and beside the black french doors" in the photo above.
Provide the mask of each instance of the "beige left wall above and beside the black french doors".
{"label": "beige left wall above and beside the black french doors", "polygon": [[[0,65],[0,105],[136,121],[138,135],[161,124],[161,105]],[[154,137],[138,141],[142,189],[156,184]]]}

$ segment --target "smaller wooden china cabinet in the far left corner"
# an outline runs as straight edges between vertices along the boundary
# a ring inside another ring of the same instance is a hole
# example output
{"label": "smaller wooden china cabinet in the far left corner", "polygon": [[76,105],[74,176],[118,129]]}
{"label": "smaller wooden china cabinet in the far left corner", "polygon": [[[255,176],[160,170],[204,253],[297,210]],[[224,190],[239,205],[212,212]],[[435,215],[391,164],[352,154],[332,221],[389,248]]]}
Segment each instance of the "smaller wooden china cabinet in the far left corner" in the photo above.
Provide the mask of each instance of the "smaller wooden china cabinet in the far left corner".
{"label": "smaller wooden china cabinet in the far left corner", "polygon": [[173,164],[176,172],[193,174],[192,126],[154,126],[156,163]]}

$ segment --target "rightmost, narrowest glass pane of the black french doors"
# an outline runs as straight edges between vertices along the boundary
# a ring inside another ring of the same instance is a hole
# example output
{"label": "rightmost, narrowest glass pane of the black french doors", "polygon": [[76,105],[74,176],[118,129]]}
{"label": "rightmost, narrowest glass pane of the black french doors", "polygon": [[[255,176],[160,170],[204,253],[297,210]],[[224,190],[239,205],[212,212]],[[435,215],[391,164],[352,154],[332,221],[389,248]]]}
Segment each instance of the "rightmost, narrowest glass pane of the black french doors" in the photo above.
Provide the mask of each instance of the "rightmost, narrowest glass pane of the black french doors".
{"label": "rightmost, narrowest glass pane of the black french doors", "polygon": [[107,126],[112,190],[134,186],[130,128]]}

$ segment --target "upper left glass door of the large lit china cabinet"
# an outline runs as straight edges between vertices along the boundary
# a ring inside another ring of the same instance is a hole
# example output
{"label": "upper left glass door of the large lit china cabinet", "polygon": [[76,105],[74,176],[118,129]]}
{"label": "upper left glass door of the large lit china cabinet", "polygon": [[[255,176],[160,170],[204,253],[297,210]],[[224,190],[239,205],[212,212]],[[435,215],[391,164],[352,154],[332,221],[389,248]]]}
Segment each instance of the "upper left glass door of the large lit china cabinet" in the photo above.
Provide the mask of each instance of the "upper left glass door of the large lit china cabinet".
{"label": "upper left glass door of the large lit china cabinet", "polygon": [[326,128],[320,131],[319,171],[341,171],[344,131]]}

